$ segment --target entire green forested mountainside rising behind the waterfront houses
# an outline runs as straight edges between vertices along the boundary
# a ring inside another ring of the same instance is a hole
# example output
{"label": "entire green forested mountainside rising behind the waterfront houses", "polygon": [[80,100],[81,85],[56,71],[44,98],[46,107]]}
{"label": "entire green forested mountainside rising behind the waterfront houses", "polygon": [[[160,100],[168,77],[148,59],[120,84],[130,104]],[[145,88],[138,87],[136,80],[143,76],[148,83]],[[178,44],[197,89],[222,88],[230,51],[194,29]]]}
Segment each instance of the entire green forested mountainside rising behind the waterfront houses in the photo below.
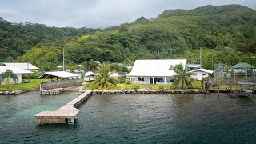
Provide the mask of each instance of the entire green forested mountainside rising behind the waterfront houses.
{"label": "entire green forested mountainside rising behind the waterfront houses", "polygon": [[127,65],[142,58],[198,62],[200,47],[205,68],[217,62],[256,64],[256,10],[239,5],[165,10],[157,18],[142,17],[102,31],[10,22],[11,28],[6,30],[6,23],[2,19],[0,24],[0,59],[11,61],[23,55],[18,61],[41,68],[60,64],[63,48],[70,65],[90,59]]}

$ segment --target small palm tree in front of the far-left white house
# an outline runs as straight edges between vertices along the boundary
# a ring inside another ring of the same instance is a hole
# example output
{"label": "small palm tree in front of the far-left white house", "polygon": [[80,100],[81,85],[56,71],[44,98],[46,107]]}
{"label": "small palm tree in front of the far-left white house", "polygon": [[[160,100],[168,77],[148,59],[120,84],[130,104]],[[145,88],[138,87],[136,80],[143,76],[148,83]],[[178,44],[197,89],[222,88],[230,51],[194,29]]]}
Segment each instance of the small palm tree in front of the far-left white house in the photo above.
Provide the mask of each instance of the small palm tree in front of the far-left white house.
{"label": "small palm tree in front of the far-left white house", "polygon": [[3,72],[2,74],[0,74],[1,82],[3,82],[5,79],[6,79],[7,89],[9,89],[12,79],[14,80],[15,83],[18,82],[18,77],[16,74],[14,74],[12,70],[6,70],[6,72]]}

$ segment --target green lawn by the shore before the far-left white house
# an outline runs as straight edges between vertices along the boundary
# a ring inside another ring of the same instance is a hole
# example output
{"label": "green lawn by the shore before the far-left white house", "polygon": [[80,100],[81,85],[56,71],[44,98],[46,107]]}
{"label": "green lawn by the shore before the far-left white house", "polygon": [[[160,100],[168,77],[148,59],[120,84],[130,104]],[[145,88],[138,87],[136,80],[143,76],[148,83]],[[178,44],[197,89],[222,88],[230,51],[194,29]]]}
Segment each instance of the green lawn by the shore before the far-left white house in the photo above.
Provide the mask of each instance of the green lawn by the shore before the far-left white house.
{"label": "green lawn by the shore before the far-left white house", "polygon": [[45,79],[30,79],[29,83],[18,83],[10,85],[7,89],[6,85],[0,85],[0,90],[27,90],[31,88],[39,88],[41,82],[46,82]]}

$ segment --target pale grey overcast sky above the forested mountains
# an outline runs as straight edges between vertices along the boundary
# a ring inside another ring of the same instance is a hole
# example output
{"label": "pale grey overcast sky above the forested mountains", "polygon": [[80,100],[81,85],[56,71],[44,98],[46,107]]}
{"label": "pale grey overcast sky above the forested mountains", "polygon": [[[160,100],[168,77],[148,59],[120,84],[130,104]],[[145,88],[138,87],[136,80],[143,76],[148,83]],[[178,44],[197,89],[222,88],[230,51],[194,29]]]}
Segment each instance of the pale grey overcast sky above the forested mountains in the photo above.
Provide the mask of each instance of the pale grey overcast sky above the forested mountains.
{"label": "pale grey overcast sky above the forested mountains", "polygon": [[240,4],[256,9],[256,0],[0,0],[0,17],[46,26],[106,28],[137,18],[156,18],[163,10]]}

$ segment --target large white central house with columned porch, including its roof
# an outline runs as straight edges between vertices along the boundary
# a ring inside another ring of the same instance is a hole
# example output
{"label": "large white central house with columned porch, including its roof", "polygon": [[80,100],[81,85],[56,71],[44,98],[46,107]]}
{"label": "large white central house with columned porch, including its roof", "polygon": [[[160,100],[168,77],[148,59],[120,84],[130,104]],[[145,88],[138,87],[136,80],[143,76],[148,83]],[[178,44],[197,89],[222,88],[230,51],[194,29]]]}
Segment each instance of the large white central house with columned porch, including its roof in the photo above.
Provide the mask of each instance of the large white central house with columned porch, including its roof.
{"label": "large white central house with columned porch, including its roof", "polygon": [[170,77],[176,74],[174,66],[178,64],[185,68],[186,59],[136,60],[126,77],[133,79],[133,83],[171,84]]}

